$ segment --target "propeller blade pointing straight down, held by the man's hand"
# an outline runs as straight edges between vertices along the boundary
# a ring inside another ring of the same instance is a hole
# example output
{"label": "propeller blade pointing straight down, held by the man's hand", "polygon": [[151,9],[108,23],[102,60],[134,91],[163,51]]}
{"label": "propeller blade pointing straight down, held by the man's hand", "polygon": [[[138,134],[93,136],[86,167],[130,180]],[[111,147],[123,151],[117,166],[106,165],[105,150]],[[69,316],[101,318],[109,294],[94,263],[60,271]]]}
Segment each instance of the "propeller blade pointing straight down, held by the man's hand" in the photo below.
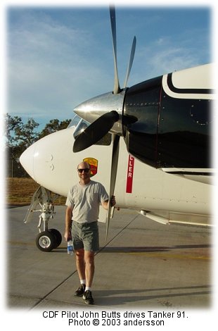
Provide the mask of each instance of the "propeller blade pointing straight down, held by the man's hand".
{"label": "propeller blade pointing straight down, held by the man's hand", "polygon": [[[111,160],[111,170],[110,170],[110,194],[109,199],[111,199],[111,196],[113,196],[115,191],[115,182],[117,177],[117,163],[119,158],[119,149],[120,149],[120,136],[119,135],[113,135],[113,151],[112,151],[112,160]],[[114,207],[110,206],[108,207],[108,213],[106,218],[106,237],[108,237],[108,229],[109,229],[109,223],[110,223],[110,213],[114,209]]]}

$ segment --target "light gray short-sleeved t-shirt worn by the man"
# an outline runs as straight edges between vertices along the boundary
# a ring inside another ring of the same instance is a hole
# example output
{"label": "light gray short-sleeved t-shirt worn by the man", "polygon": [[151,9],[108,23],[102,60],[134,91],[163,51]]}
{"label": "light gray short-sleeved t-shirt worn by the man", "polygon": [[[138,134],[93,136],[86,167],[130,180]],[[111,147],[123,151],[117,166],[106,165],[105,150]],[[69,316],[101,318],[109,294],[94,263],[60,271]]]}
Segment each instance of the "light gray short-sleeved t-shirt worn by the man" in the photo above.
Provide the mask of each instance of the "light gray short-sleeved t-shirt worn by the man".
{"label": "light gray short-sleeved t-shirt worn by the man", "polygon": [[91,223],[98,220],[99,205],[108,199],[108,193],[101,183],[91,180],[89,184],[80,185],[78,182],[70,189],[66,206],[73,208],[72,220]]}

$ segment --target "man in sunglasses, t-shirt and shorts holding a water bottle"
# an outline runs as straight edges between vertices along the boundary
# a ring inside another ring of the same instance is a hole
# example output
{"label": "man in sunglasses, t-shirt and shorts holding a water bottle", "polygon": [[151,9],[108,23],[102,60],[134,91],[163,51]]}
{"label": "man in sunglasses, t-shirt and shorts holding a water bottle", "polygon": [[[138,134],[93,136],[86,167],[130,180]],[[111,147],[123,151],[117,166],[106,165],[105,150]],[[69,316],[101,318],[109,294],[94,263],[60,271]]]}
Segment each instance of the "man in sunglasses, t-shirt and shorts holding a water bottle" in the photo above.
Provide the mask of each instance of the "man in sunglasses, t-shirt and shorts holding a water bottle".
{"label": "man in sunglasses, t-shirt and shorts holding a water bottle", "polygon": [[[85,304],[94,304],[91,285],[94,278],[94,253],[99,249],[99,205],[108,209],[109,198],[101,183],[90,179],[89,163],[77,166],[79,182],[70,189],[66,201],[65,240],[71,237],[76,256],[80,285],[75,296],[83,296]],[[115,206],[115,197],[110,201]]]}

